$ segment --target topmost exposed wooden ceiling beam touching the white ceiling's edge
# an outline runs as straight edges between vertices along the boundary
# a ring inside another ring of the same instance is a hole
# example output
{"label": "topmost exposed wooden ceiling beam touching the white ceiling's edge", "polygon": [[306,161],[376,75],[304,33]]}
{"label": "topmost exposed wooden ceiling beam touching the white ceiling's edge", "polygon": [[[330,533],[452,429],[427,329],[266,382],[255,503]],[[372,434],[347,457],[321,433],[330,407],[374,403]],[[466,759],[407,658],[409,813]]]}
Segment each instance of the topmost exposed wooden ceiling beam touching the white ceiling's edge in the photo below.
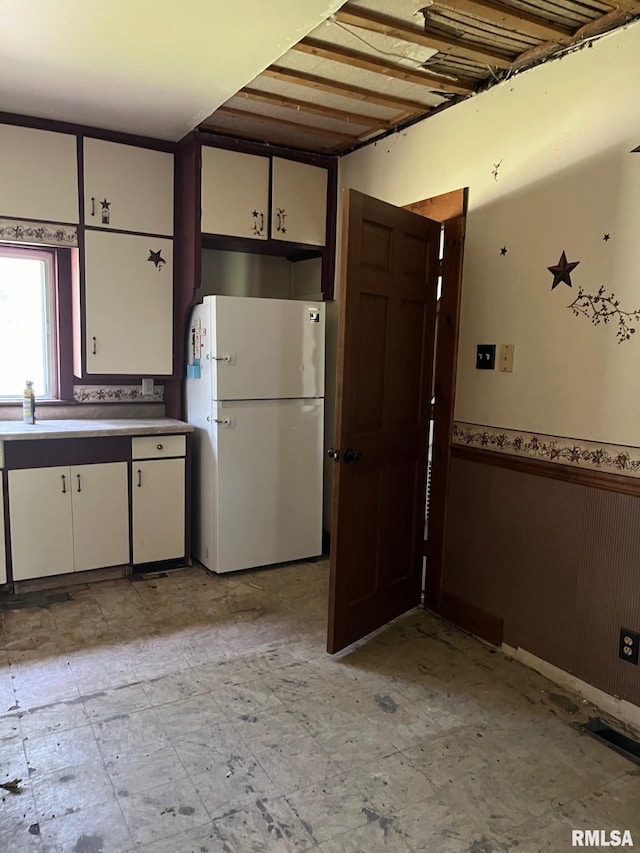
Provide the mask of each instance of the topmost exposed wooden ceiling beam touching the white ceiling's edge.
{"label": "topmost exposed wooden ceiling beam touching the white ceiling's edge", "polygon": [[405,24],[404,21],[390,18],[388,15],[380,15],[378,12],[372,12],[359,6],[347,4],[335,13],[335,17],[342,24],[348,24],[372,33],[380,33],[401,41],[408,41],[411,44],[420,44],[432,50],[470,59],[473,62],[493,65],[496,68],[508,68],[513,62],[513,57],[499,51],[491,50],[482,45],[474,45],[472,42],[453,36],[431,35],[421,27]]}

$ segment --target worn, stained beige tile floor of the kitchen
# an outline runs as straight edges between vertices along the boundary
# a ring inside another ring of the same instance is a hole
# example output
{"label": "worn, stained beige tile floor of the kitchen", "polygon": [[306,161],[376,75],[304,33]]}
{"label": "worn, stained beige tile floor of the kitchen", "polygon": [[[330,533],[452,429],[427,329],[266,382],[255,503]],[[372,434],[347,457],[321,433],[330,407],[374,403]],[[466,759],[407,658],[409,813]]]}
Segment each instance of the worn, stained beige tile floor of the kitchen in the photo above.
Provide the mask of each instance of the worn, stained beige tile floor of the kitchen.
{"label": "worn, stained beige tile floor of the kitchen", "polygon": [[629,829],[591,709],[414,611],[324,652],[326,563],[199,568],[2,612],[2,853],[492,853]]}

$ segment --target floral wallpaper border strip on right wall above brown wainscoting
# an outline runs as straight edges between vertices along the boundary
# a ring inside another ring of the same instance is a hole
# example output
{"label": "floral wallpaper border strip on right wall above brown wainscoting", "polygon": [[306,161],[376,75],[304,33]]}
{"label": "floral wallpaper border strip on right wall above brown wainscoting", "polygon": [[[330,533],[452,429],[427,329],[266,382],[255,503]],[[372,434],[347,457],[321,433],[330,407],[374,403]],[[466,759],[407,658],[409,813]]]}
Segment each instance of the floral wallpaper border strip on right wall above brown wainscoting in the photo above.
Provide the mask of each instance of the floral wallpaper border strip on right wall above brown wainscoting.
{"label": "floral wallpaper border strip on right wall above brown wainscoting", "polygon": [[453,443],[592,471],[640,477],[640,448],[557,435],[454,423]]}

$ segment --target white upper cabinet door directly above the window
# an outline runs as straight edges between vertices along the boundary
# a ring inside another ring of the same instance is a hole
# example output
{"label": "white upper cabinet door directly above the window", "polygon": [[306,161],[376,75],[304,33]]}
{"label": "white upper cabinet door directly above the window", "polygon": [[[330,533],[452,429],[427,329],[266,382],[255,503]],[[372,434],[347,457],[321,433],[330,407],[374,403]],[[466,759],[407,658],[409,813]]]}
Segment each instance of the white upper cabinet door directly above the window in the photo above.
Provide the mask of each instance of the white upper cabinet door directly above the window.
{"label": "white upper cabinet door directly above the window", "polygon": [[77,223],[76,137],[0,125],[0,216]]}

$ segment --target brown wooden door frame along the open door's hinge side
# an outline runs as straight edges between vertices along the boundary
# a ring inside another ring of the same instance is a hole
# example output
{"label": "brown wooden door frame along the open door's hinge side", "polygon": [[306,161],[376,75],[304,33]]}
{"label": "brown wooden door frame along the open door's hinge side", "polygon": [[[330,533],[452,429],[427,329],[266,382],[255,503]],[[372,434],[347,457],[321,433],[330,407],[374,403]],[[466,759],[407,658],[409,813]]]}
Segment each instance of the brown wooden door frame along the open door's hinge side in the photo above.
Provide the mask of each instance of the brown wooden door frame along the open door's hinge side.
{"label": "brown wooden door frame along the open door's hinge side", "polygon": [[462,265],[466,231],[469,188],[453,190],[432,198],[404,205],[406,210],[441,222],[444,230],[444,253],[441,264],[442,292],[436,314],[436,351],[434,368],[434,431],[429,489],[429,522],[424,542],[426,575],[424,606],[440,612],[444,548],[451,469],[460,303],[462,299]]}

